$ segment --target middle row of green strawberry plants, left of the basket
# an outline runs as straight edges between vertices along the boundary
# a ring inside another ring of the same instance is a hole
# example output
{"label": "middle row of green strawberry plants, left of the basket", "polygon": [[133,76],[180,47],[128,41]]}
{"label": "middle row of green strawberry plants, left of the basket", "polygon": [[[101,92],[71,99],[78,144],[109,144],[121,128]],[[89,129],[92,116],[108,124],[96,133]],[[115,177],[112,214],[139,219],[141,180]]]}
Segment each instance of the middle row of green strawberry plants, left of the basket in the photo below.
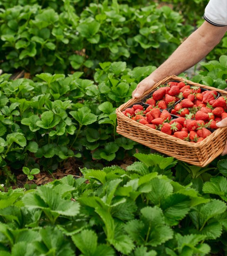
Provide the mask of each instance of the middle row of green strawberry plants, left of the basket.
{"label": "middle row of green strawberry plants, left of the basket", "polygon": [[100,66],[95,81],[81,79],[81,72],[42,73],[36,82],[0,76],[0,166],[5,171],[22,166],[53,171],[72,157],[87,166],[92,160],[122,160],[125,150],[135,151],[135,142],[116,133],[115,110],[155,67]]}

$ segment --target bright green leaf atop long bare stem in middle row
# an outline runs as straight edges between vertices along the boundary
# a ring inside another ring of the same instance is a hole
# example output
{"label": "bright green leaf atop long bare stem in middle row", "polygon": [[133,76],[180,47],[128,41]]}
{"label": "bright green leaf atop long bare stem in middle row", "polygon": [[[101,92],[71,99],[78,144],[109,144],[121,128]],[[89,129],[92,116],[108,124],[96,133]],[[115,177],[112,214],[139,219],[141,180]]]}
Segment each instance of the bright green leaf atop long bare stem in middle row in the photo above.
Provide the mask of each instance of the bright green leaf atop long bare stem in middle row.
{"label": "bright green leaf atop long bare stem in middle row", "polygon": [[78,111],[71,111],[71,116],[78,121],[80,125],[92,124],[97,120],[97,116],[90,113],[90,109],[87,107],[79,108]]}

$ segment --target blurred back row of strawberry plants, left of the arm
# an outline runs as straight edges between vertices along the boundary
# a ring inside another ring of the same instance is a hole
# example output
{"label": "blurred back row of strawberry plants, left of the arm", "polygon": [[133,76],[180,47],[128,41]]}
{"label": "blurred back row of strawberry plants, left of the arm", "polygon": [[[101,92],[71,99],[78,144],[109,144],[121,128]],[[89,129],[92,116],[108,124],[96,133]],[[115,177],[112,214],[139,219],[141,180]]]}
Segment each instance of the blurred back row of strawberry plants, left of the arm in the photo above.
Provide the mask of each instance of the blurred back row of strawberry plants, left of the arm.
{"label": "blurred back row of strawberry plants, left of the arm", "polygon": [[[160,65],[192,31],[168,6],[94,1],[78,14],[80,1],[18,1],[0,10],[0,68],[87,75],[100,62]],[[37,4],[38,3],[38,4]],[[57,10],[52,5],[61,5]],[[46,6],[47,5],[47,6]],[[46,7],[45,7],[46,6]]]}

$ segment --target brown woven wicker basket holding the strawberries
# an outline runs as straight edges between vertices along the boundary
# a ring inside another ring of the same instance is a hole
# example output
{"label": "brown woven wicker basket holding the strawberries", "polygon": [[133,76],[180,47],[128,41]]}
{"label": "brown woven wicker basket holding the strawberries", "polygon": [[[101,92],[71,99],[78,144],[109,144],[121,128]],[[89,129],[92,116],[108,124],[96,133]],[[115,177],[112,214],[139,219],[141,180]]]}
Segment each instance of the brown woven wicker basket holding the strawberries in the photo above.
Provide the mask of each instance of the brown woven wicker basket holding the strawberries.
{"label": "brown woven wicker basket holding the strawberries", "polygon": [[226,91],[197,84],[192,81],[179,78],[175,75],[167,76],[165,79],[155,84],[155,86],[147,91],[142,97],[137,99],[132,98],[116,109],[118,123],[117,133],[140,144],[148,146],[149,148],[153,148],[161,153],[173,156],[181,161],[203,167],[222,153],[227,139],[227,127],[218,128],[215,130],[215,132],[199,143],[191,143],[162,133],[159,130],[146,127],[143,124],[128,118],[122,113],[122,111],[127,107],[137,102],[141,102],[142,99],[146,97],[152,90],[154,90],[155,87],[171,80],[177,80],[179,82],[186,81],[189,85],[215,90],[220,94],[227,96]]}

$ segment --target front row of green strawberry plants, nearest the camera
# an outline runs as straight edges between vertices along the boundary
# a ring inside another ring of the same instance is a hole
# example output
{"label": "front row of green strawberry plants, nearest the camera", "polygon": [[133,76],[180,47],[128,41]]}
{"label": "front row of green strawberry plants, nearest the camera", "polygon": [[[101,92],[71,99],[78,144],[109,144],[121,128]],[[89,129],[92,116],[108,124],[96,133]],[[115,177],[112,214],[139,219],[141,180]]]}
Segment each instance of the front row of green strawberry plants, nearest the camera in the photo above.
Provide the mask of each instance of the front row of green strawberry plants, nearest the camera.
{"label": "front row of green strawberry plants, nearest the camera", "polygon": [[[69,175],[37,190],[0,192],[0,255],[224,254],[226,177],[203,182],[200,174],[184,186],[170,169],[187,170],[173,158],[134,156],[140,161],[127,171],[84,168],[77,180]],[[226,171],[226,160],[218,167]]]}

